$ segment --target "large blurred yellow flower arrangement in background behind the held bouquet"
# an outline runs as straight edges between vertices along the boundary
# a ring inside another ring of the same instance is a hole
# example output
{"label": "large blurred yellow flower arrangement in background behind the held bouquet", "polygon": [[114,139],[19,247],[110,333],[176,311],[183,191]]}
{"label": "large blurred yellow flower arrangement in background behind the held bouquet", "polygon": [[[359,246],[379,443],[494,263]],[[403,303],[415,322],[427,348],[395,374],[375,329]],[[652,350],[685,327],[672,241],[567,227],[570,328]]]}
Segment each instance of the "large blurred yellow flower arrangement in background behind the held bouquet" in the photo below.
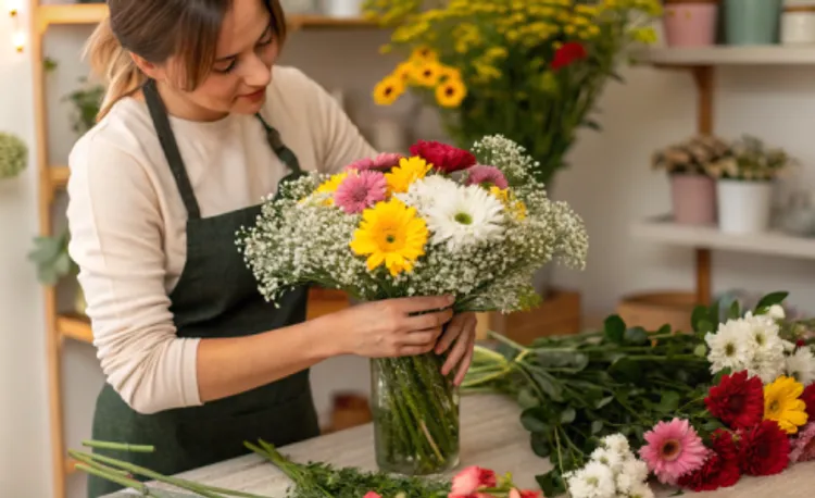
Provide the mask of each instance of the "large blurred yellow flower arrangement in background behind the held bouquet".
{"label": "large blurred yellow flower arrangement in background behind the held bouquet", "polygon": [[[653,42],[659,0],[366,0],[392,27],[385,52],[406,58],[373,90],[389,105],[406,91],[439,111],[468,149],[501,134],[526,149],[549,192],[580,128],[600,129],[595,103],[635,45]],[[538,290],[546,295],[548,272]]]}

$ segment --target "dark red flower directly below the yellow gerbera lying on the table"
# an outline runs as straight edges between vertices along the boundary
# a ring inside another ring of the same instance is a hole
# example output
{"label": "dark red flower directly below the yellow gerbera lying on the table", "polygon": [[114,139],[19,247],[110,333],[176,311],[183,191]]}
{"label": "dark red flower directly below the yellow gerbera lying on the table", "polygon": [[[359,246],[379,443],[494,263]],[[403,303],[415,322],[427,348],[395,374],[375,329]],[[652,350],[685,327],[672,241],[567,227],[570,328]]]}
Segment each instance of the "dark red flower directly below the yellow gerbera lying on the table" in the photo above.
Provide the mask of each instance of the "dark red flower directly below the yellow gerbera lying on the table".
{"label": "dark red flower directly below the yellow gerbera lying on the table", "polygon": [[739,468],[748,475],[778,474],[790,460],[787,433],[772,420],[739,429]]}

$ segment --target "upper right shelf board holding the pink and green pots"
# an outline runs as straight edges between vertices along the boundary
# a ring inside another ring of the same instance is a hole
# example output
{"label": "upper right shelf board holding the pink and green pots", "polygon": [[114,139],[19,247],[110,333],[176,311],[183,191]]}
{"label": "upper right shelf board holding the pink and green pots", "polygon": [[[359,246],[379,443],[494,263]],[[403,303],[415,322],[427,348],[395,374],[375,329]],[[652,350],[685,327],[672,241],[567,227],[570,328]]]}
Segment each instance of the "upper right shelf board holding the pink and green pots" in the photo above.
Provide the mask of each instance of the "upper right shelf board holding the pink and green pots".
{"label": "upper right shelf board holding the pink and green pots", "polygon": [[815,47],[780,45],[657,47],[635,51],[632,58],[638,63],[665,66],[813,65],[815,64]]}

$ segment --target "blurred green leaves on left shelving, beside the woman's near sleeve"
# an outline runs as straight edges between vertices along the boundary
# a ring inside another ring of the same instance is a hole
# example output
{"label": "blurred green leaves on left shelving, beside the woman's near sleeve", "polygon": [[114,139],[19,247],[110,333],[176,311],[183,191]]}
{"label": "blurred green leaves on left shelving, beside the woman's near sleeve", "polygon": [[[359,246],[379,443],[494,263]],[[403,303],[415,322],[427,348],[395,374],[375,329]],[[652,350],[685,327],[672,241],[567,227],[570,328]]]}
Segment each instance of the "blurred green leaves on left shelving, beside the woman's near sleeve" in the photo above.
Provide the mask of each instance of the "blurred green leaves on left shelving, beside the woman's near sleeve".
{"label": "blurred green leaves on left shelving, beside the woman's near sleeve", "polygon": [[[62,231],[53,236],[37,236],[34,238],[34,248],[28,253],[28,260],[34,262],[37,269],[37,278],[45,286],[54,286],[63,278],[75,277],[78,266],[68,254],[68,231]],[[77,286],[74,311],[85,314],[85,295],[82,287]]]}

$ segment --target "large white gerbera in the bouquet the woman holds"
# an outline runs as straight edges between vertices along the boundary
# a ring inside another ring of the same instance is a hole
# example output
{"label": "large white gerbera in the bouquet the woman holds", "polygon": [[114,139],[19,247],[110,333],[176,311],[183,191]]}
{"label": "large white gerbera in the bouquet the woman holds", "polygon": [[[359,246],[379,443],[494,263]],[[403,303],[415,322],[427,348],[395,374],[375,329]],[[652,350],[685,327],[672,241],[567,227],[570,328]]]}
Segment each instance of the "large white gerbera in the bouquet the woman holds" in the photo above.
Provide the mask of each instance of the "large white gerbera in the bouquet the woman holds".
{"label": "large white gerbera in the bouquet the woman holds", "polygon": [[494,196],[475,185],[441,190],[443,196],[423,210],[431,244],[456,251],[503,238],[504,207]]}

